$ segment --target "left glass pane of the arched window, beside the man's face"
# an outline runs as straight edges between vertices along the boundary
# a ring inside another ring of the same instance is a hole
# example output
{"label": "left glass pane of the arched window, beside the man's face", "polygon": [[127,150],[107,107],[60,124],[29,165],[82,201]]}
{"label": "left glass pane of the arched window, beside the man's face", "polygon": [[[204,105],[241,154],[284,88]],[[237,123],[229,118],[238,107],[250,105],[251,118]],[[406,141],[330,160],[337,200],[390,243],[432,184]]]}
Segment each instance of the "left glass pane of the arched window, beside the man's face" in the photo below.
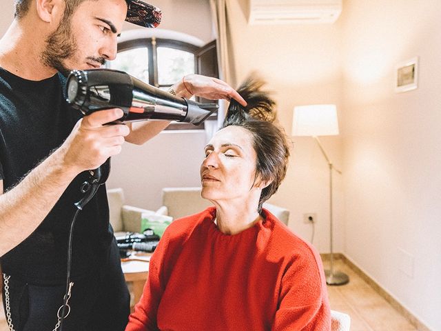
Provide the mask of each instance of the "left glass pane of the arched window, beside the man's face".
{"label": "left glass pane of the arched window, beside the man's face", "polygon": [[108,68],[121,70],[149,83],[149,53],[146,47],[123,50],[114,61],[107,62]]}

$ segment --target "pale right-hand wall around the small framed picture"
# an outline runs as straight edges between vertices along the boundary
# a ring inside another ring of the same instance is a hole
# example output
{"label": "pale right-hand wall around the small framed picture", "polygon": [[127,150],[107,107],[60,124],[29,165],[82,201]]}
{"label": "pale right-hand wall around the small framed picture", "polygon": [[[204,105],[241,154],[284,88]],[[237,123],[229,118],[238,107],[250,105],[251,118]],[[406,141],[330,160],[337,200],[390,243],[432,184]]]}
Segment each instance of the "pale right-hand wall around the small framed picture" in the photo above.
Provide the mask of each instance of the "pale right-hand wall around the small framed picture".
{"label": "pale right-hand wall around the small framed picture", "polygon": [[[342,17],[345,253],[431,330],[441,330],[440,13],[439,0],[348,0]],[[419,87],[397,94],[395,66],[416,56]]]}

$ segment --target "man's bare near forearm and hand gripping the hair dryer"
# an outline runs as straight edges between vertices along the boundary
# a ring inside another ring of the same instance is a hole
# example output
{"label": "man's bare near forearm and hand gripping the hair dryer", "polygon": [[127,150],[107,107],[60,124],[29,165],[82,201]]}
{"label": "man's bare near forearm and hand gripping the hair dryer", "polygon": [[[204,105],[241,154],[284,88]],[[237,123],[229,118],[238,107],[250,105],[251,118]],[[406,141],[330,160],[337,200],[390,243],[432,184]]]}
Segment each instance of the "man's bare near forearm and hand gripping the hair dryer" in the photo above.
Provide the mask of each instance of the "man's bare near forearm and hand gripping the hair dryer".
{"label": "man's bare near forearm and hand gripping the hair dryer", "polygon": [[0,195],[0,257],[26,239],[45,219],[77,174],[121,152],[126,126],[103,126],[122,110],[94,112],[76,123],[68,139],[14,188]]}

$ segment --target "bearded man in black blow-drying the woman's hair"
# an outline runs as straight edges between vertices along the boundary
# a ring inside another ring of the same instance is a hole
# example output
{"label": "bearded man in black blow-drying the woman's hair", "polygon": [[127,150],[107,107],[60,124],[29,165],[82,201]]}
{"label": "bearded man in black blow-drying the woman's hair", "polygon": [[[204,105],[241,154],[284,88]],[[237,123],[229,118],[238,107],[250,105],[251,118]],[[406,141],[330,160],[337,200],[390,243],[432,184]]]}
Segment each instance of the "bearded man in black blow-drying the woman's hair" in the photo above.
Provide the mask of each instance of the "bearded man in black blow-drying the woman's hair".
{"label": "bearded man in black blow-drying the woman's hair", "polygon": [[[103,126],[122,116],[119,109],[80,119],[65,103],[63,74],[114,59],[123,22],[154,27],[160,11],[139,0],[15,0],[15,7],[14,21],[0,41],[3,305],[11,330],[57,330],[68,232],[86,170],[119,154],[123,141],[144,143],[168,124]],[[147,16],[137,16],[139,10]],[[245,104],[218,79],[188,75],[173,88],[179,97],[190,97],[191,91]],[[104,185],[79,212],[72,247],[74,286],[63,330],[123,330],[129,294]]]}

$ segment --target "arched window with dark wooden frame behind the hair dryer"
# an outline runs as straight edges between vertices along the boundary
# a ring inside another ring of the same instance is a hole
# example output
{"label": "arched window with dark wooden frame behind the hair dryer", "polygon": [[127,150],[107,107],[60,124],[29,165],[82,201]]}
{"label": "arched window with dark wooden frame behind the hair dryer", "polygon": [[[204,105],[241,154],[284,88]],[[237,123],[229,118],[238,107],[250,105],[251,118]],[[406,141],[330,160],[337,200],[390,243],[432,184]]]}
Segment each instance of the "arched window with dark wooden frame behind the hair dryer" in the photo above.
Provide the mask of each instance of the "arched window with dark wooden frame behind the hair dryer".
{"label": "arched window with dark wooden frame behind the hair dryer", "polygon": [[[135,37],[118,43],[118,55],[108,68],[122,70],[167,90],[186,74],[205,74],[218,77],[216,41],[199,47],[186,41],[164,37]],[[197,98],[199,102],[213,102]],[[217,120],[212,114],[208,120]],[[173,122],[166,130],[201,130],[201,126]]]}

